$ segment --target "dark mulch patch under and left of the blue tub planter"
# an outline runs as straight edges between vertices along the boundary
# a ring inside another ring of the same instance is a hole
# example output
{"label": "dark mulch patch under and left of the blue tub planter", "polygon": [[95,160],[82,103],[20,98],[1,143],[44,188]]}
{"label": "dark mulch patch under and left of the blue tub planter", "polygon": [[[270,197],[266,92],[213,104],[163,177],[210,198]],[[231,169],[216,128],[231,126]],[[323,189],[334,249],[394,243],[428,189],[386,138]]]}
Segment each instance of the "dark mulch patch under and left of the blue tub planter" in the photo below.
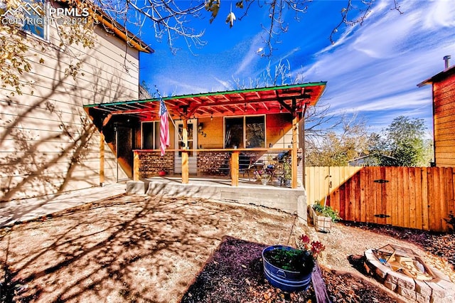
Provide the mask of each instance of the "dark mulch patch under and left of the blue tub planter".
{"label": "dark mulch patch under and left of the blue tub planter", "polygon": [[225,237],[183,295],[182,302],[277,302],[314,298],[311,292],[289,294],[271,287],[262,271],[264,248],[267,245]]}

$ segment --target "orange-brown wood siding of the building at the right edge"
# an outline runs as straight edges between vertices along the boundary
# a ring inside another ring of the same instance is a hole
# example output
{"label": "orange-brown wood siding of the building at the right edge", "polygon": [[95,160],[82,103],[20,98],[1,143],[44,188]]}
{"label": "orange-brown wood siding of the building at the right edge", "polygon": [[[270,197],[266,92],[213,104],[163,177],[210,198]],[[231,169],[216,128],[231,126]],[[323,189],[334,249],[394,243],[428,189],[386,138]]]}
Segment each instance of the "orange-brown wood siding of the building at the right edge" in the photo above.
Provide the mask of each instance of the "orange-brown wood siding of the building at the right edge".
{"label": "orange-brown wood siding of the building at the right edge", "polygon": [[434,158],[437,166],[455,166],[455,74],[433,83]]}

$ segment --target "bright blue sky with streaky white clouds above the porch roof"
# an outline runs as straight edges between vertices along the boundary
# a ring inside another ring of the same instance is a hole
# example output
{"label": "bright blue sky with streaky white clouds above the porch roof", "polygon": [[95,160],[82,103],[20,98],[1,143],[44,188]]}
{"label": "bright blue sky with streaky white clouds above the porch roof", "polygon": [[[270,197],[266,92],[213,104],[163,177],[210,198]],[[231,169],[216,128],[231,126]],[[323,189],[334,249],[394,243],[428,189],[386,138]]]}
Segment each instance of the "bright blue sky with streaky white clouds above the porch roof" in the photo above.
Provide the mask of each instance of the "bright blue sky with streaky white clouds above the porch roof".
{"label": "bright blue sky with streaky white clouds above the porch roof", "polygon": [[230,1],[221,0],[212,24],[208,13],[193,23],[205,29],[207,45],[202,48],[190,51],[179,39],[181,50],[173,55],[165,41],[142,36],[155,53],[141,55],[141,82],[156,85],[162,95],[233,90],[234,78],[249,82],[264,72],[269,60],[272,66],[287,60],[294,75],[304,75],[301,82],[327,81],[320,102],[330,104],[333,115],[357,112],[375,132],[406,115],[425,119],[431,132],[431,87],[416,85],[444,69],[444,55],[452,55],[455,63],[451,0],[399,1],[403,14],[391,10],[392,0],[377,1],[361,26],[341,26],[332,45],[328,37],[345,4],[314,1],[300,21],[285,16],[289,31],[279,36],[272,57],[264,58],[257,50],[263,47],[261,22],[267,21],[267,9],[250,11],[229,28],[225,16]]}

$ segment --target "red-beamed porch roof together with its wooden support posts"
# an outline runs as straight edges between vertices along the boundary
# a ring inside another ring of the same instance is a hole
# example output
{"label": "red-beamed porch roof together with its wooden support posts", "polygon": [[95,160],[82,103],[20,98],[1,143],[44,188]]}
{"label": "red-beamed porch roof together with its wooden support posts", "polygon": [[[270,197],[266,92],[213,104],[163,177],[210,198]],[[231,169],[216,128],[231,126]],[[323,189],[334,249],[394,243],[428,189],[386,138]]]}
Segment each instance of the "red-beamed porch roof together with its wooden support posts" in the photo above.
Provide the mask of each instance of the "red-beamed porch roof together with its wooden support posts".
{"label": "red-beamed porch roof together with its wooden support posts", "polygon": [[[237,115],[260,115],[289,112],[292,115],[292,148],[291,148],[291,187],[297,186],[297,150],[298,142],[304,142],[304,132],[299,132],[299,120],[304,116],[306,107],[316,105],[326,82],[301,83],[275,87],[262,87],[247,90],[230,90],[225,92],[208,92],[193,95],[164,97],[169,115],[172,119],[183,121],[183,143],[188,140],[186,132],[187,119],[200,117],[228,117]],[[140,121],[159,119],[159,98],[133,100],[85,105],[102,115],[122,115],[135,117]],[[302,124],[303,124],[303,119]],[[303,125],[301,125],[303,130]],[[188,144],[184,146],[188,147]],[[303,145],[302,145],[303,147]],[[182,183],[188,183],[188,152],[200,149],[174,149],[182,152]],[[223,149],[228,151],[228,149]],[[249,149],[252,150],[252,149]],[[256,150],[256,149],[255,149]],[[257,149],[259,150],[259,149]],[[267,150],[267,149],[264,149]],[[232,150],[232,186],[238,185],[238,158],[240,149]],[[135,155],[136,156],[136,155]],[[136,160],[135,160],[136,161]],[[236,173],[237,172],[237,173]],[[134,179],[139,180],[139,167],[134,166]]]}

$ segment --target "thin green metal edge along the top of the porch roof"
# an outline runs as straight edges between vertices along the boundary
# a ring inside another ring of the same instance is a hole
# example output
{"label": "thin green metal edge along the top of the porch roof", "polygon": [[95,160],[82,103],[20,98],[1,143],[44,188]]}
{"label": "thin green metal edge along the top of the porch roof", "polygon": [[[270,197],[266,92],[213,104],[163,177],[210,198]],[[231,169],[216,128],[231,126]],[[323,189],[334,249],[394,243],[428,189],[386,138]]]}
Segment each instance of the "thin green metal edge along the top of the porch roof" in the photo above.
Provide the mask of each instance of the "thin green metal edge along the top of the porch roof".
{"label": "thin green metal edge along the top of the porch roof", "polygon": [[[224,92],[201,92],[198,94],[191,94],[191,95],[178,95],[178,96],[164,97],[163,100],[174,100],[174,99],[193,98],[193,97],[206,97],[206,96],[215,96],[215,95],[230,95],[230,94],[238,94],[240,92],[263,92],[264,90],[282,90],[285,88],[294,88],[294,87],[312,87],[312,86],[320,86],[320,85],[326,86],[326,84],[327,84],[327,81],[321,81],[321,82],[311,82],[311,83],[301,83],[301,84],[291,84],[291,85],[279,85],[279,86],[271,86],[271,87],[247,88],[245,90],[225,90]],[[97,107],[97,106],[103,106],[103,105],[105,105],[105,106],[106,105],[125,105],[125,104],[130,104],[130,103],[146,103],[146,102],[155,102],[155,101],[159,101],[159,98],[89,104],[89,105],[84,105],[84,108],[85,107]]]}

